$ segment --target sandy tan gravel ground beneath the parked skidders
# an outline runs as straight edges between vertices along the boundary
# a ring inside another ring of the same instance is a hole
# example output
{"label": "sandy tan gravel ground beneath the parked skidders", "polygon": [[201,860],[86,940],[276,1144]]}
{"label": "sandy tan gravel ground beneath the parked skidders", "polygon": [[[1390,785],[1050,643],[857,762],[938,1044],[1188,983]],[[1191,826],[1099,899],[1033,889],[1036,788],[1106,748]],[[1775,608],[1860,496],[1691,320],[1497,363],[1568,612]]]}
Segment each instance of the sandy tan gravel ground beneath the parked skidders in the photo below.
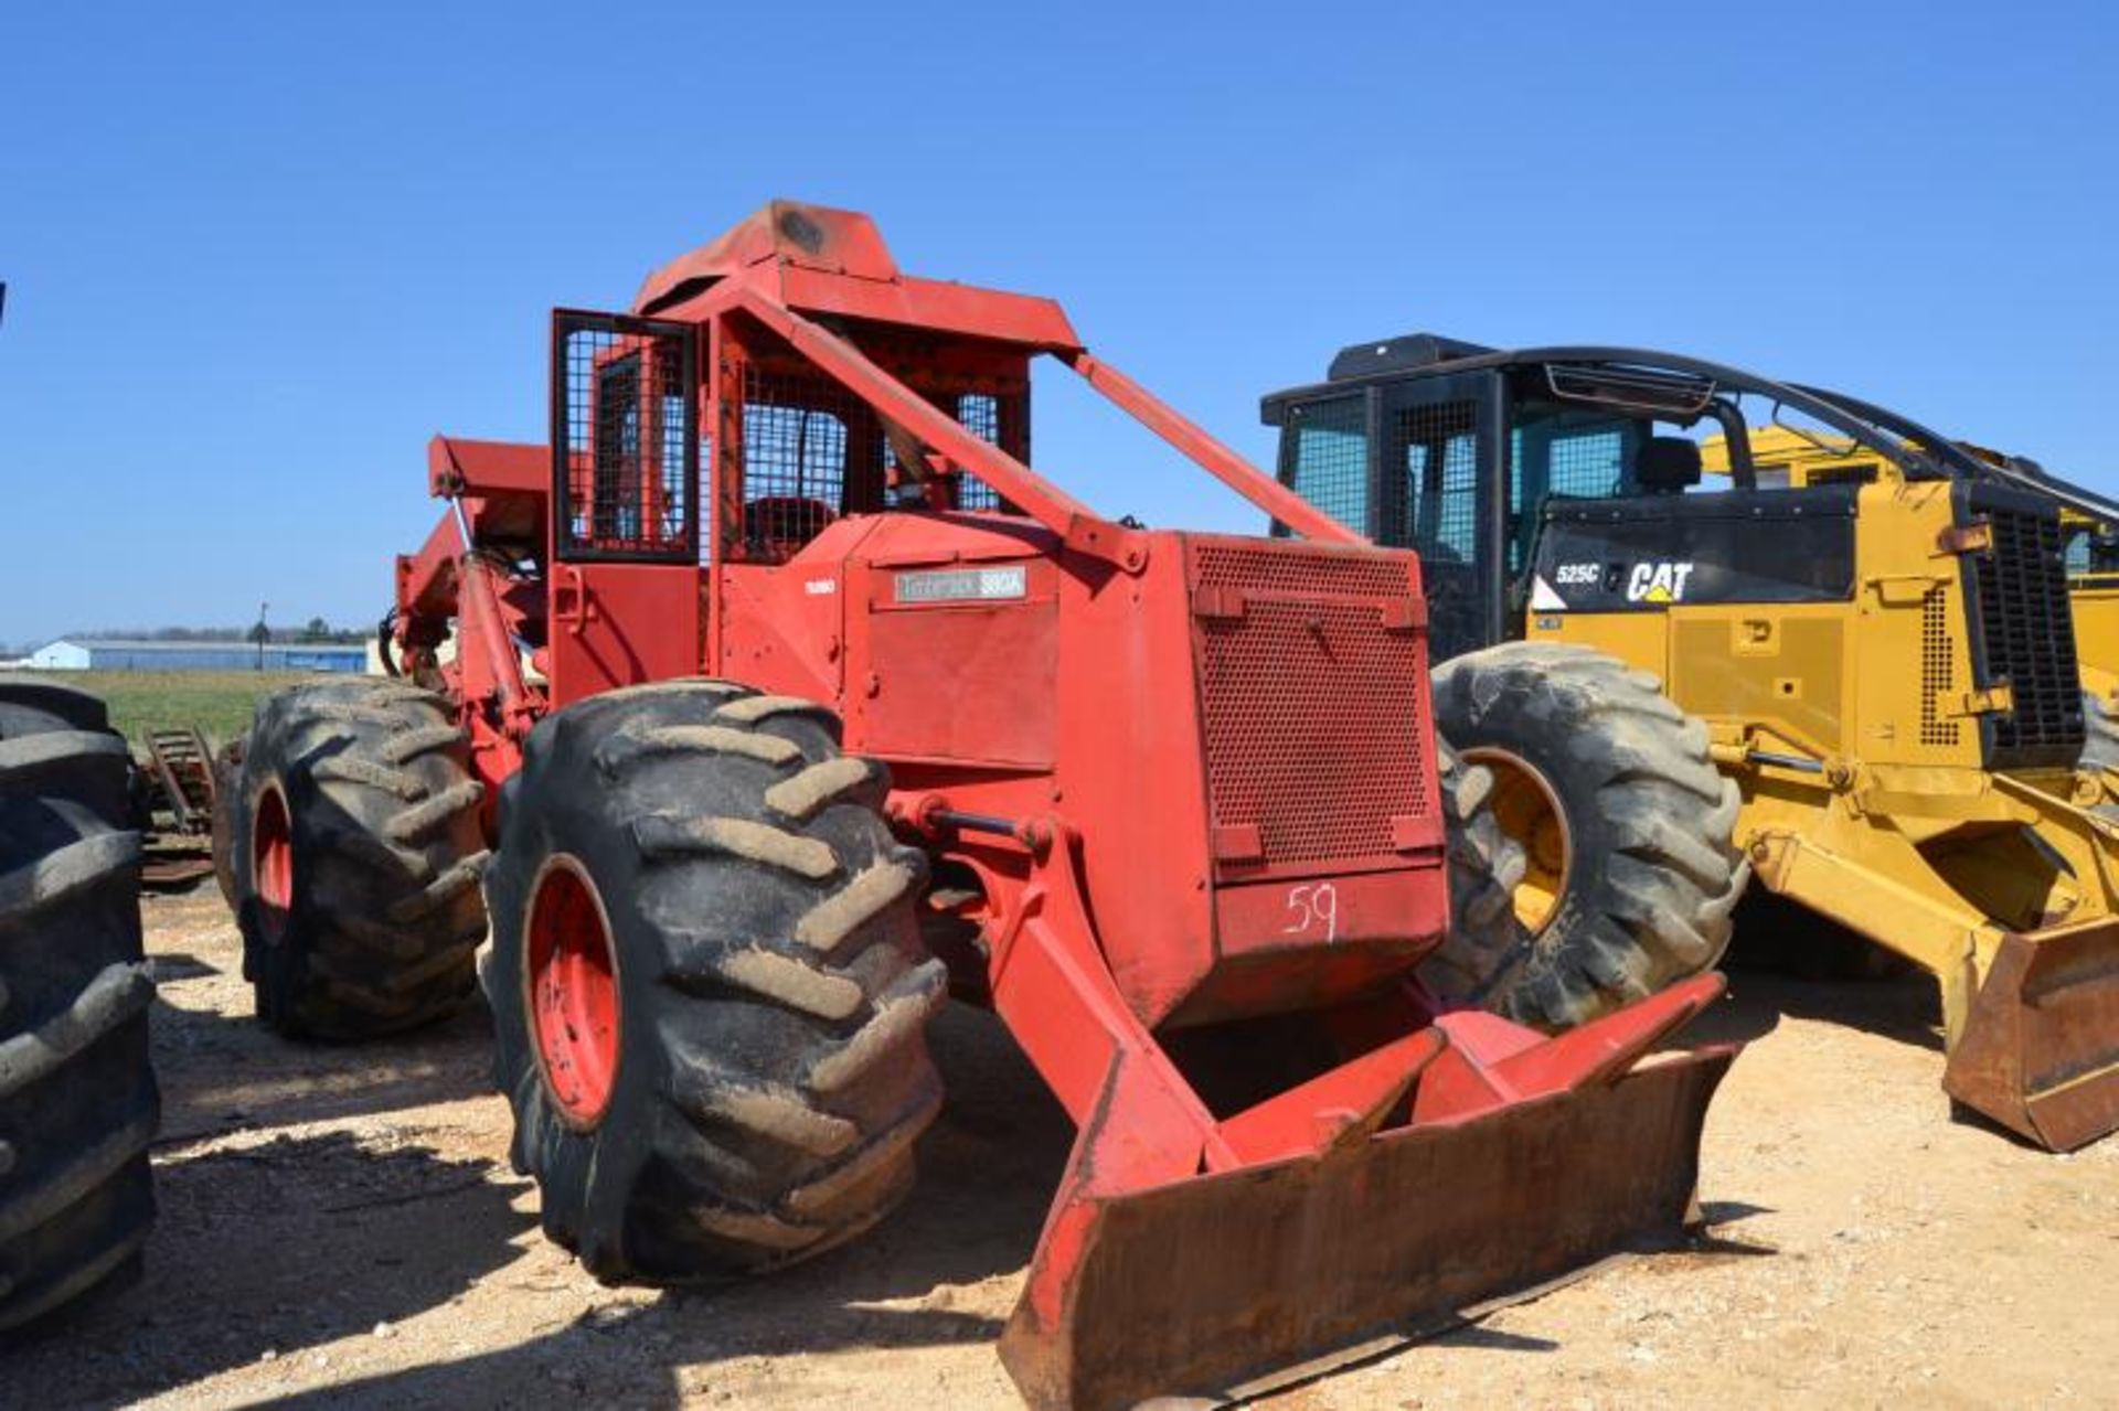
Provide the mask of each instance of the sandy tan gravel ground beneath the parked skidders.
{"label": "sandy tan gravel ground beneath the parked skidders", "polygon": [[[1068,1123],[983,1015],[915,1203],[714,1294],[608,1290],[536,1231],[485,1087],[485,1015],[369,1049],[248,1019],[212,883],[146,903],[163,992],[161,1225],[144,1278],[0,1354],[0,1403],[91,1407],[1017,1405],[992,1341]],[[1593,1275],[1284,1409],[2119,1405],[2119,1140],[2077,1157],[1952,1123],[1918,977],[1740,975],[1697,1248]]]}

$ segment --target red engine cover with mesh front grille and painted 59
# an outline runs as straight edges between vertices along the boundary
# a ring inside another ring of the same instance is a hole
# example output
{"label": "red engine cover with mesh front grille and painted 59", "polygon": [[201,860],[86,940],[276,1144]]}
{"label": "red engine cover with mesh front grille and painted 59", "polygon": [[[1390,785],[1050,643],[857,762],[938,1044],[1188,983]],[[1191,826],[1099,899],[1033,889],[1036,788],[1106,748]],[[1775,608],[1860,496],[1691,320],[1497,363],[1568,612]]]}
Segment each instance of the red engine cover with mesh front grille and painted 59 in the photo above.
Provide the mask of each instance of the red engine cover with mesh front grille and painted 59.
{"label": "red engine cover with mesh front grille and painted 59", "polygon": [[[1447,922],[1413,555],[1148,544],[1121,574],[1019,521],[843,519],[727,574],[718,669],[835,686],[907,809],[1064,820],[1148,1025],[1375,989]],[[1019,847],[945,841],[1015,905]]]}

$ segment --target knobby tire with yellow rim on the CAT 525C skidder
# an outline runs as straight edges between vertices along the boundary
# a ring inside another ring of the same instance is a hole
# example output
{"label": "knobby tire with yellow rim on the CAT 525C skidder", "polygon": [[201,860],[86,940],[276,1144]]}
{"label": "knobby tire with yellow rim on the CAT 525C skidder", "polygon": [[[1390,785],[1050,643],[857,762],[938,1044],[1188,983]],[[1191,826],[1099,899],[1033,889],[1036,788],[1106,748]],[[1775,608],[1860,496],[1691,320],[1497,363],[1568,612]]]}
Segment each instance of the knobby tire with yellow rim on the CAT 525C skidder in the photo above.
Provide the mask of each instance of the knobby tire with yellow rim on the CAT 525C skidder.
{"label": "knobby tire with yellow rim on the CAT 525C skidder", "polygon": [[[1750,879],[1742,801],[1706,725],[1661,682],[1581,646],[1509,642],[1435,669],[1435,729],[1494,775],[1490,805],[1526,843],[1521,947],[1460,996],[1566,1030],[1721,960]],[[1460,951],[1462,960],[1473,960]]]}

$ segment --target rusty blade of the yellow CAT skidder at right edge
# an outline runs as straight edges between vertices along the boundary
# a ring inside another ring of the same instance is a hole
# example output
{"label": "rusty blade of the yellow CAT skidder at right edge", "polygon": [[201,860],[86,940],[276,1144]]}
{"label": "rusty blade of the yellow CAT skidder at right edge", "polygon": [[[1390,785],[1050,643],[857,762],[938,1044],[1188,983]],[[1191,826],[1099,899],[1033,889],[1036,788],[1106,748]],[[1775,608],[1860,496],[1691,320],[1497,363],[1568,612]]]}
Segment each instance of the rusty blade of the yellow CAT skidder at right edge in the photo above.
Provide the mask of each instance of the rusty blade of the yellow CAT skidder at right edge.
{"label": "rusty blade of the yellow CAT skidder at right edge", "polygon": [[2049,1150],[2119,1129],[2119,919],[2002,936],[1943,1091]]}

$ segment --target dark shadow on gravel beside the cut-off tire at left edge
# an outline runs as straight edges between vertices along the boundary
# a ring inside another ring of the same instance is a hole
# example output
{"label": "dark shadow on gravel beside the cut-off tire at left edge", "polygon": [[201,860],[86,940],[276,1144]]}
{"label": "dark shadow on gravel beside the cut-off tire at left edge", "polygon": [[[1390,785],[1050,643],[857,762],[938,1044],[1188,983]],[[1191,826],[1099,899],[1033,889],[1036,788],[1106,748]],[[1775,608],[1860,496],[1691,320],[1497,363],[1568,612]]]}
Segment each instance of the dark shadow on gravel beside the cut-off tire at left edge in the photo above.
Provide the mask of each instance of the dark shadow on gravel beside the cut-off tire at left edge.
{"label": "dark shadow on gravel beside the cut-off tire at left edge", "polygon": [[123,1405],[367,1333],[460,1297],[530,1225],[489,1163],[348,1133],[163,1157],[155,1180],[146,1275],[11,1352],[0,1388]]}

